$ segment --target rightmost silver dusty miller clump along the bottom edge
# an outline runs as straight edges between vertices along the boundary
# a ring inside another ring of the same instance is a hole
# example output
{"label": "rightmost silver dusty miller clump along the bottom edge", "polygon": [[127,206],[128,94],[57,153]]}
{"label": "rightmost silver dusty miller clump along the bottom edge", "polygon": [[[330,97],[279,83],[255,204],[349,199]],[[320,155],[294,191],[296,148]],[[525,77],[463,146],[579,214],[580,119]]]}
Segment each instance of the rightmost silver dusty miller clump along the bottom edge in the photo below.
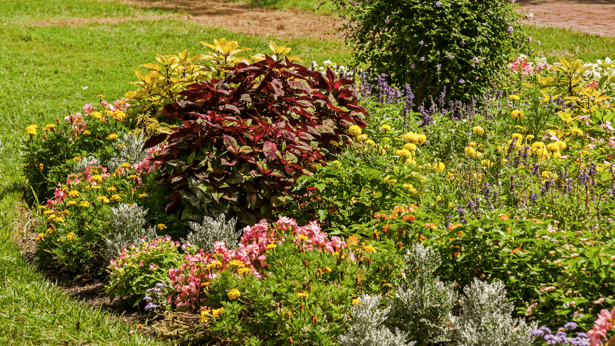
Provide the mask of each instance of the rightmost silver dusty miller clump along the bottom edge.
{"label": "rightmost silver dusty miller clump along the bottom edge", "polygon": [[501,282],[491,284],[474,278],[461,297],[461,317],[450,316],[451,339],[457,346],[530,346],[530,333],[537,328],[510,315],[514,305],[506,302],[506,289]]}

